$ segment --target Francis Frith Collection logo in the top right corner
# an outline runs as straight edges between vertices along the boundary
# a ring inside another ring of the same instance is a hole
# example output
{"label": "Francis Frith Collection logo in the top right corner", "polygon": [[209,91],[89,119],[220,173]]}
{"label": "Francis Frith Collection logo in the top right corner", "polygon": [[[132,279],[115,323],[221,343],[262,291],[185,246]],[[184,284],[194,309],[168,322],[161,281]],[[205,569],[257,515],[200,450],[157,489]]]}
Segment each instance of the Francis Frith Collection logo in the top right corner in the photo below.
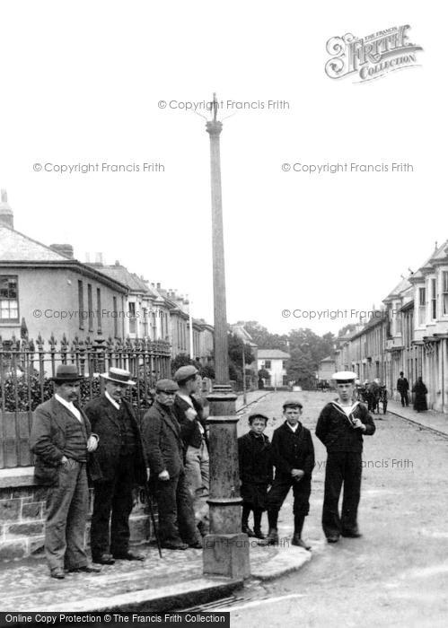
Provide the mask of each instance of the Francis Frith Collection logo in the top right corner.
{"label": "Francis Frith Collection logo in the top right corner", "polygon": [[409,25],[394,26],[364,39],[351,33],[332,37],[327,41],[331,58],[325,64],[326,74],[337,79],[356,73],[359,80],[355,83],[365,83],[388,72],[418,65],[416,53],[423,48],[408,41],[409,29]]}

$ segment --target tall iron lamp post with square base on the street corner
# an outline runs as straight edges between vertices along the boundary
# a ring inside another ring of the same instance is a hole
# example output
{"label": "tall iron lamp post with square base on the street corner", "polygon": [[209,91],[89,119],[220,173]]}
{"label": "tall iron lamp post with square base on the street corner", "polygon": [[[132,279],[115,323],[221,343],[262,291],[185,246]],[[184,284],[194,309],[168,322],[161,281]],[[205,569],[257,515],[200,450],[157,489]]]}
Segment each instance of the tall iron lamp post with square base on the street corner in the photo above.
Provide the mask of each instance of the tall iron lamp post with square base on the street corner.
{"label": "tall iron lamp post with square base on the street corner", "polygon": [[213,95],[213,119],[206,123],[210,136],[212,188],[213,301],[215,325],[215,384],[210,402],[210,534],[204,538],[204,573],[247,578],[250,575],[249,543],[241,528],[240,477],[235,408],[236,395],[229,383],[227,314],[225,305],[224,232],[221,194],[219,135],[223,123],[216,119],[218,103]]}

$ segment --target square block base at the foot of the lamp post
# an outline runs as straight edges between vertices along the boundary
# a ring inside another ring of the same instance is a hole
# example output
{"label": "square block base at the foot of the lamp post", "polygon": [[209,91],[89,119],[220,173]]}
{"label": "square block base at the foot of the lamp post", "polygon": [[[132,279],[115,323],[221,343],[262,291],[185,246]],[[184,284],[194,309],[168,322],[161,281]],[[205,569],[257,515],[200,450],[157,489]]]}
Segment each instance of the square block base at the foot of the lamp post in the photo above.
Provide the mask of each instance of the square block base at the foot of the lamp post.
{"label": "square block base at the foot of the lamp post", "polygon": [[209,534],[204,537],[203,572],[225,578],[249,578],[249,538],[237,534]]}

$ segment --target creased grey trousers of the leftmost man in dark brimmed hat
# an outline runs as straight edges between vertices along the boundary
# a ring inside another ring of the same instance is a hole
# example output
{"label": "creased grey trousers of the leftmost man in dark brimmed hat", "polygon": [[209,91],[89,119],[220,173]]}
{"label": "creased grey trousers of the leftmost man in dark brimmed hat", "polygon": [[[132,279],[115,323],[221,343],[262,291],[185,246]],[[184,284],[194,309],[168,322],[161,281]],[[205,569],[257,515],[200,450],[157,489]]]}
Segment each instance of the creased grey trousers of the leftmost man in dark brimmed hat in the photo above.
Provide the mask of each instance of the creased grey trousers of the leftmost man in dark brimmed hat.
{"label": "creased grey trousers of the leftmost man in dark brimmed hat", "polygon": [[57,468],[57,484],[47,493],[45,555],[50,570],[87,564],[84,531],[88,509],[85,463],[69,458]]}

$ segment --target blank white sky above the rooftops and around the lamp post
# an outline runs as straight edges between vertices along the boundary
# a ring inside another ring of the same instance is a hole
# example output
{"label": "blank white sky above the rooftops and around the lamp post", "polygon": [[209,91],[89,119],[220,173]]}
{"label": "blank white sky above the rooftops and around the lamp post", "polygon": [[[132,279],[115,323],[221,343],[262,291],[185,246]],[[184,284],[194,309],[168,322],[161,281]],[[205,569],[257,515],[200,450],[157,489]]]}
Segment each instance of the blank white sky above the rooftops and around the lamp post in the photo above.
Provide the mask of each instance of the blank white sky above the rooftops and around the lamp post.
{"label": "blank white sky above the rooftops and around the lamp post", "polygon": [[[2,3],[0,187],[15,228],[69,242],[81,261],[99,251],[118,259],[189,293],[193,315],[213,322],[209,139],[206,120],[179,103],[217,92],[224,105],[255,103],[219,111],[234,114],[221,135],[229,322],[318,334],[356,322],[351,310],[379,307],[448,237],[446,10],[434,6]],[[367,83],[325,74],[331,37],[403,24],[424,48],[417,67]],[[413,171],[282,170],[345,162]],[[89,163],[99,171],[52,170]],[[139,171],[105,172],[103,163]],[[310,322],[282,310],[347,317]]]}

